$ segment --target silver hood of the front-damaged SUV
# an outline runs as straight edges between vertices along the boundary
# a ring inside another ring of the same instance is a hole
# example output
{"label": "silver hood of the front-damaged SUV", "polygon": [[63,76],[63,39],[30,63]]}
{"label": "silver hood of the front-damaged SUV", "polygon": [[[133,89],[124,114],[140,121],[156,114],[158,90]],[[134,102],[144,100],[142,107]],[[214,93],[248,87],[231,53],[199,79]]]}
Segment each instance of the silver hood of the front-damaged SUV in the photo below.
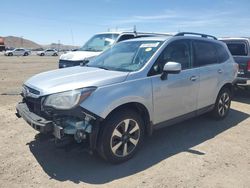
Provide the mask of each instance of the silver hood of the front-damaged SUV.
{"label": "silver hood of the front-damaged SUV", "polygon": [[37,74],[28,79],[24,85],[38,90],[40,96],[44,96],[84,87],[100,87],[123,82],[128,74],[128,72],[76,66]]}

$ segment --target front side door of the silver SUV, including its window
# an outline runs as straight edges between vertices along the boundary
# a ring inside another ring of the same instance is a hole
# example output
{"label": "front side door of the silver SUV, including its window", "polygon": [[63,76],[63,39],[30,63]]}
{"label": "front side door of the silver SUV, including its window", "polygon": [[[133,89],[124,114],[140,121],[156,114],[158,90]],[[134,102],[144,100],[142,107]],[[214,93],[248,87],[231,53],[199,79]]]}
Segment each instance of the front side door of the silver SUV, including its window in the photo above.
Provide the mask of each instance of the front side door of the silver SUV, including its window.
{"label": "front side door of the silver SUV, including its window", "polygon": [[[161,72],[166,62],[182,65],[179,74],[169,74],[161,80]],[[177,40],[170,43],[153,65],[151,75],[153,85],[154,122],[160,123],[179,117],[197,108],[199,76],[192,68],[191,42]]]}

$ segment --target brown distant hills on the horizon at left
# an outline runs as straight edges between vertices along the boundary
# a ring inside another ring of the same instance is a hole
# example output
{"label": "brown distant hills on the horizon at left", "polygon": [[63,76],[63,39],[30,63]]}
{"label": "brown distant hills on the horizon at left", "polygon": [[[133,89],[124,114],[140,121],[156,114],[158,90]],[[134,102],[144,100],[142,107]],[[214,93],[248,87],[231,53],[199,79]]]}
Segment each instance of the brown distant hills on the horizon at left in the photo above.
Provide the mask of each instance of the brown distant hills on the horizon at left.
{"label": "brown distant hills on the horizon at left", "polygon": [[31,50],[47,49],[47,48],[53,48],[53,49],[60,48],[60,50],[71,50],[71,49],[79,48],[79,46],[56,44],[56,43],[51,43],[49,45],[40,45],[31,40],[24,39],[21,37],[15,37],[15,36],[4,37],[4,43],[5,43],[5,46],[8,48],[11,48],[11,47],[12,48],[27,48]]}

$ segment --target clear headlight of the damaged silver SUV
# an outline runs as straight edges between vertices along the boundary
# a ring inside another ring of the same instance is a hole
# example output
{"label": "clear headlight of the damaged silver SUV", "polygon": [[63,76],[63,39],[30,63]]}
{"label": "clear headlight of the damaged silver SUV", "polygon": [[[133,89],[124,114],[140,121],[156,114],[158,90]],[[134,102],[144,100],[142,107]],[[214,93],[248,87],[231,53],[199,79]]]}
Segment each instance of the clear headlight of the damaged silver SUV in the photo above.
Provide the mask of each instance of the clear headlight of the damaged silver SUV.
{"label": "clear headlight of the damaged silver SUV", "polygon": [[50,106],[60,110],[71,109],[84,101],[95,90],[96,87],[89,87],[52,94],[45,99],[44,106]]}

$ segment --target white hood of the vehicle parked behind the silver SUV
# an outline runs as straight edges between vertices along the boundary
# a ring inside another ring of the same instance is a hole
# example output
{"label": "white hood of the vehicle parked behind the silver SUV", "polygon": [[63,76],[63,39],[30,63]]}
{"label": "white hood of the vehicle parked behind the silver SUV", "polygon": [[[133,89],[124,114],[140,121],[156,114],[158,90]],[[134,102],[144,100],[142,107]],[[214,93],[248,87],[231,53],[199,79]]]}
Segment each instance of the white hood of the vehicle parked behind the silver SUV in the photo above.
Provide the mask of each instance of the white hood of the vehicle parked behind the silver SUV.
{"label": "white hood of the vehicle parked behind the silver SUV", "polygon": [[60,56],[61,60],[70,60],[70,61],[81,61],[86,58],[91,58],[101,54],[102,52],[91,52],[91,51],[75,51],[62,54]]}

